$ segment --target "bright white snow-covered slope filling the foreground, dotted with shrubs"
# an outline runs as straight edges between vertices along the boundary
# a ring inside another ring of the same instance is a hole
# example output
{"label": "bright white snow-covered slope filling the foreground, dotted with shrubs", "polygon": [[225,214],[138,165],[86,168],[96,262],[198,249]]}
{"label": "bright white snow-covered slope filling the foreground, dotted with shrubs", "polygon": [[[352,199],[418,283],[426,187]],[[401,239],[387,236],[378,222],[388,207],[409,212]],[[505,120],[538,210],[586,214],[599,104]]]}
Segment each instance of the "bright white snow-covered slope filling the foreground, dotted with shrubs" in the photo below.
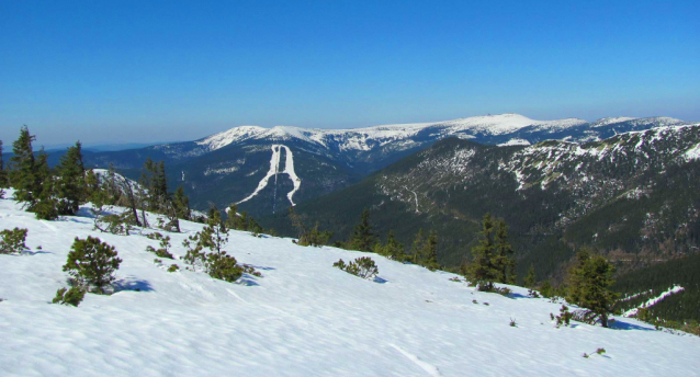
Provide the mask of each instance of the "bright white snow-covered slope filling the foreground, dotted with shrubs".
{"label": "bright white snow-covered slope filling the foreground, dotted with shrubs", "polygon": [[[479,293],[375,254],[234,231],[228,252],[263,276],[232,284],[168,273],[173,262],[155,264],[145,249],[156,242],[144,236],[97,233],[80,216],[37,221],[2,199],[0,229],[13,227],[29,229],[31,252],[0,255],[2,376],[692,376],[700,367],[697,336],[629,318],[614,329],[555,329],[560,305],[524,289]],[[169,235],[178,256],[201,225],[182,228]],[[123,260],[118,292],[90,294],[78,308],[47,304],[66,285],[74,239],[89,235]],[[375,282],[331,267],[366,255]],[[598,347],[607,353],[582,357]]]}

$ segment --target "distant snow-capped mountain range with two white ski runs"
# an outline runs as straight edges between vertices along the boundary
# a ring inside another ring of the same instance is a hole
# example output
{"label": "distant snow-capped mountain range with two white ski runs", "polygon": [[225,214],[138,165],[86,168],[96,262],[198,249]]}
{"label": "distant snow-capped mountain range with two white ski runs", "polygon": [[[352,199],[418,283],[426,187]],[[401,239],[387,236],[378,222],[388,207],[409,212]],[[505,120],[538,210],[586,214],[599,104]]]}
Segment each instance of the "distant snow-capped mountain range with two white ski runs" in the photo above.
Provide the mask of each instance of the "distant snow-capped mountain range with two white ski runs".
{"label": "distant snow-capped mountain range with two white ski runs", "polygon": [[547,139],[586,142],[682,124],[687,123],[670,117],[618,117],[589,123],[501,114],[355,129],[240,126],[194,141],[86,152],[86,163],[95,168],[113,164],[136,178],[146,158],[163,160],[171,186],[183,185],[195,208],[240,202],[241,209],[262,216],[347,187],[448,137],[500,146],[533,145]]}

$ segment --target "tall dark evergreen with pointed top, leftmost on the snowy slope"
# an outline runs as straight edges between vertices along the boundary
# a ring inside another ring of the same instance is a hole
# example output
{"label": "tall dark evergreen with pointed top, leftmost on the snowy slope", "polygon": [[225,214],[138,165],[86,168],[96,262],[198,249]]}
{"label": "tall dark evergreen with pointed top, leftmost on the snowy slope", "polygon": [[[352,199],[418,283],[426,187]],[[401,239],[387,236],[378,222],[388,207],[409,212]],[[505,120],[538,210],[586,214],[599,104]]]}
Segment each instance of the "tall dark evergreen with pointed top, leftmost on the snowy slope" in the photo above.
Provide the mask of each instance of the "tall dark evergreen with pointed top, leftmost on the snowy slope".
{"label": "tall dark evergreen with pointed top, leftmost on the snowy slope", "polygon": [[36,136],[30,135],[26,126],[20,130],[20,137],[12,144],[10,159],[10,185],[14,187],[14,198],[25,203],[30,207],[34,205],[35,195],[38,195],[39,181],[36,178],[36,167],[32,141]]}

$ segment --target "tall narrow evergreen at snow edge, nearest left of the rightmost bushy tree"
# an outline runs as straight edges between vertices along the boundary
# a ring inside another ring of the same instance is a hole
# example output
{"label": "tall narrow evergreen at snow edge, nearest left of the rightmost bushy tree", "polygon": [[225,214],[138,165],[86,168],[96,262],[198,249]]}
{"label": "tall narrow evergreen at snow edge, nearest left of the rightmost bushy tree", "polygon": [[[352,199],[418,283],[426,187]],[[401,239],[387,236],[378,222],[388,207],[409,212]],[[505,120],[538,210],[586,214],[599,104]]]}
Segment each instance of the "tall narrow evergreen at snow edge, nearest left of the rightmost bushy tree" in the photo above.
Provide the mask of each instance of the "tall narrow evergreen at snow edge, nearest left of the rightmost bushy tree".
{"label": "tall narrow evergreen at snow edge, nearest left of the rightmost bushy tree", "polygon": [[483,229],[479,232],[478,244],[472,248],[472,264],[468,269],[470,278],[478,285],[481,290],[492,290],[501,271],[497,265],[497,250],[494,243],[494,220],[490,214],[484,216]]}

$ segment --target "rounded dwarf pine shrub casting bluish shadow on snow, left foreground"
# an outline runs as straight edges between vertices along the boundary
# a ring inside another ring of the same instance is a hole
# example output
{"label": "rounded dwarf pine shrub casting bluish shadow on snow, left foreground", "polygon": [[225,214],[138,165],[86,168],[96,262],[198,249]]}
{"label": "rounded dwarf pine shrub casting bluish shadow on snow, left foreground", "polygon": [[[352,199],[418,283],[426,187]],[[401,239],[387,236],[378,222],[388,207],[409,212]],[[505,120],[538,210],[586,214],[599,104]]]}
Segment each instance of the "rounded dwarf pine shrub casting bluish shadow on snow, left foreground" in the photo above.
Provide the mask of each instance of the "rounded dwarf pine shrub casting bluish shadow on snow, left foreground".
{"label": "rounded dwarf pine shrub casting bluish shadow on snow, left foreground", "polygon": [[98,293],[104,294],[104,288],[114,282],[114,271],[121,263],[114,247],[99,238],[88,236],[88,239],[81,240],[76,237],[64,271],[70,274],[75,285],[91,285]]}

